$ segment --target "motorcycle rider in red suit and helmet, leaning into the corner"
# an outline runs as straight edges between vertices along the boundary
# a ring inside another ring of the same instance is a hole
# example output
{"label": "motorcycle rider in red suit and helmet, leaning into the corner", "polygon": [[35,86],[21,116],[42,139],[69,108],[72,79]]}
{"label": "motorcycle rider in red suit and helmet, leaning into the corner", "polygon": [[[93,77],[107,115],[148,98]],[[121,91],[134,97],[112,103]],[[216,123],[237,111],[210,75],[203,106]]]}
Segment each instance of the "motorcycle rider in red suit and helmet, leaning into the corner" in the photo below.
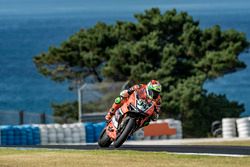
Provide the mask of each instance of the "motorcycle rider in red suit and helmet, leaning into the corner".
{"label": "motorcycle rider in red suit and helmet, leaning into the corner", "polygon": [[[161,84],[157,80],[151,80],[147,85],[146,84],[138,84],[134,85],[129,89],[123,90],[120,93],[120,96],[115,99],[112,107],[109,109],[108,114],[105,116],[106,121],[110,121],[113,115],[115,115],[116,110],[118,110],[129,98],[129,96],[134,92],[137,91],[141,97],[146,97],[147,100],[152,100],[155,110],[154,115],[151,116],[151,120],[155,121],[158,119],[159,112],[160,112],[160,105],[161,105]],[[149,124],[150,120],[147,121],[144,126]]]}

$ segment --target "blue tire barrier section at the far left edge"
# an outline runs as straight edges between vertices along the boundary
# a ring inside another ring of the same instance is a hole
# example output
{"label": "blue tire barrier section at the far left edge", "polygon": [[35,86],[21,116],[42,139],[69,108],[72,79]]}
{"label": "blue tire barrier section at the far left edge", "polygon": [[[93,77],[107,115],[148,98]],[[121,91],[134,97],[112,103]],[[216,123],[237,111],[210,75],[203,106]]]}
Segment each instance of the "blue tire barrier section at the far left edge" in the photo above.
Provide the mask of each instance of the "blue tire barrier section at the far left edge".
{"label": "blue tire barrier section at the far left edge", "polygon": [[40,130],[36,125],[0,126],[1,145],[38,145]]}

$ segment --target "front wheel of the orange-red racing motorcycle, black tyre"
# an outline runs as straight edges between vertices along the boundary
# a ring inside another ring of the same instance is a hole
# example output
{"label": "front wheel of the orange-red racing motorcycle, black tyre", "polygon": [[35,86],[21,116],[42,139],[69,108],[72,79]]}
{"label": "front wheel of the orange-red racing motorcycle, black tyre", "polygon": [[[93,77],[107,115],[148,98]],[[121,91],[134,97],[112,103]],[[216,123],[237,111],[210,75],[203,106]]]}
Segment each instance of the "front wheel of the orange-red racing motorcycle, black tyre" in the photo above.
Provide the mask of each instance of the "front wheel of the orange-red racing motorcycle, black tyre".
{"label": "front wheel of the orange-red racing motorcycle, black tyre", "polygon": [[131,131],[134,129],[135,126],[135,119],[130,118],[127,121],[127,124],[124,125],[125,127],[122,128],[119,136],[117,136],[116,140],[114,141],[114,147],[120,147],[128,138]]}

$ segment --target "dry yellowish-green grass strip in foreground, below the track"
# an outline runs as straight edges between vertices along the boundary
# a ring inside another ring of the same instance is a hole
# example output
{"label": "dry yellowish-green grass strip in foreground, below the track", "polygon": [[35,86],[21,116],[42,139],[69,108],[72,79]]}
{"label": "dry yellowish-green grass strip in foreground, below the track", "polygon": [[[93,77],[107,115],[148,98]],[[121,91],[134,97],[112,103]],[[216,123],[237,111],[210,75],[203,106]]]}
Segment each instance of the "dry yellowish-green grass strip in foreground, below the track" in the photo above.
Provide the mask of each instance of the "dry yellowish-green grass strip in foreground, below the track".
{"label": "dry yellowish-green grass strip in foreground, below the track", "polygon": [[0,167],[248,167],[250,157],[176,155],[121,150],[17,150],[0,148]]}

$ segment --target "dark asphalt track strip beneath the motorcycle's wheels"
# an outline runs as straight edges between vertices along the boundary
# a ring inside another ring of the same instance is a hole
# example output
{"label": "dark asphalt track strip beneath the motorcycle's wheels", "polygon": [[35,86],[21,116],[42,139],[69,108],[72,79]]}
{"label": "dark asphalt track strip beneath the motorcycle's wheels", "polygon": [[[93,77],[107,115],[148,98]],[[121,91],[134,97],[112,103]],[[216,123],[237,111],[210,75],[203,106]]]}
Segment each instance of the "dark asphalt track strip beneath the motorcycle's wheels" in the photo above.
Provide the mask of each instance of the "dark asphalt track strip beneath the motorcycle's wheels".
{"label": "dark asphalt track strip beneath the motorcycle's wheels", "polygon": [[[3,146],[0,146],[3,147]],[[6,146],[10,147],[10,146]],[[98,145],[39,145],[39,146],[11,146],[21,148],[49,148],[49,149],[75,149],[75,150],[137,150],[175,153],[206,153],[228,155],[250,155],[250,146],[184,146],[184,145],[123,145],[120,148],[100,148]]]}

